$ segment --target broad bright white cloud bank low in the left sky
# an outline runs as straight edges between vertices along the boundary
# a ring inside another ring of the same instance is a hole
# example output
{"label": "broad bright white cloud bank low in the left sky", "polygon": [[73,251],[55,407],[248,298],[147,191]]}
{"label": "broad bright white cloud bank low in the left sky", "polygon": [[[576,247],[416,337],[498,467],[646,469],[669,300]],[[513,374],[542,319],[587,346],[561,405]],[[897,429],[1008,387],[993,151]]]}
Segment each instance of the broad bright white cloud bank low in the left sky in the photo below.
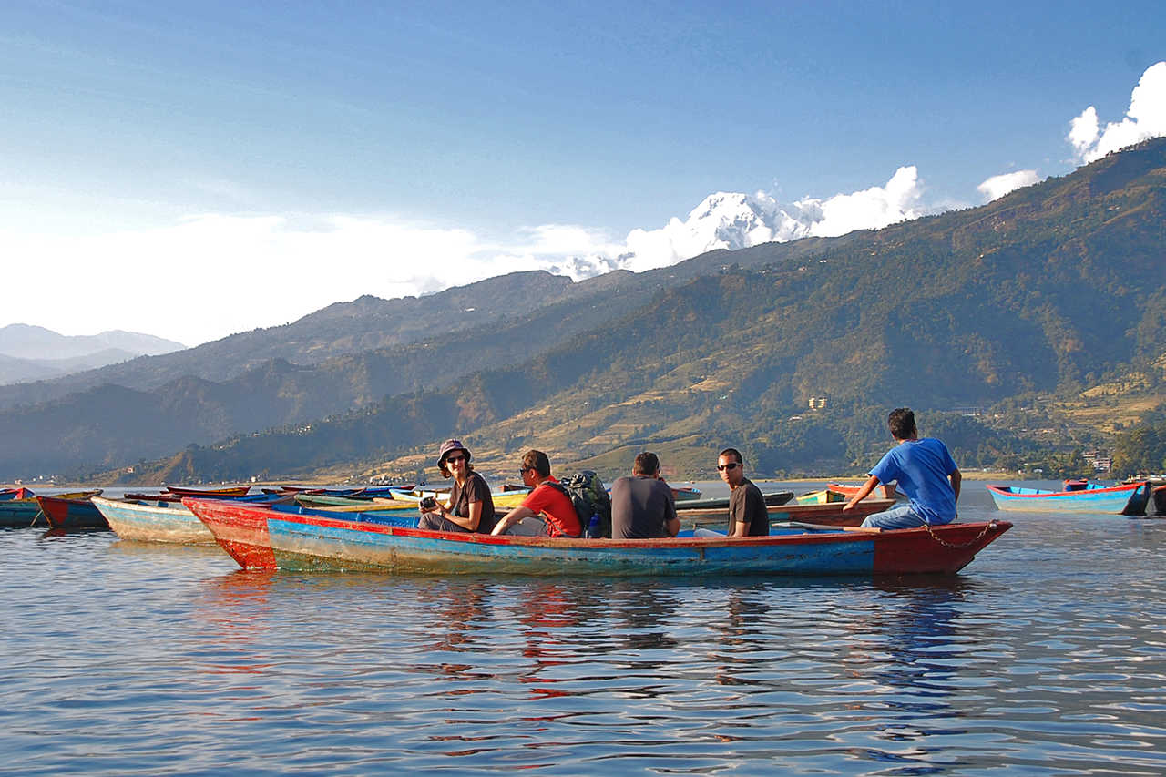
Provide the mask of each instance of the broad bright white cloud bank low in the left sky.
{"label": "broad bright white cloud bank low in the left sky", "polygon": [[419,294],[513,268],[468,230],[353,216],[212,214],[68,237],[9,229],[0,253],[19,258],[9,276],[28,289],[5,306],[6,323],[126,329],[190,345],[361,294]]}

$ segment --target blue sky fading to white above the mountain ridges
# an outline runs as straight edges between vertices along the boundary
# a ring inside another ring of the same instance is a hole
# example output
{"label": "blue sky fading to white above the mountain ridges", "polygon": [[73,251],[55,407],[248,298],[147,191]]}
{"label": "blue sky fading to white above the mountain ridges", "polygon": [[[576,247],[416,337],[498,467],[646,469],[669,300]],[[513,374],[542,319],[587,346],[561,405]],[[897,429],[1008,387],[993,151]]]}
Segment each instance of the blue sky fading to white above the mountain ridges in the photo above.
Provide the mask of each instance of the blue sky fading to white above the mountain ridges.
{"label": "blue sky fading to white above the mountain ridges", "polygon": [[[901,167],[900,217],[979,204],[991,176],[1081,163],[1070,121],[1089,106],[1121,121],[1164,60],[1160,0],[9,0],[6,274],[114,294],[174,282],[224,313],[16,307],[0,326],[194,344],[363,293],[575,254],[610,267],[630,232],[684,223],[710,194],[820,202]],[[283,304],[216,292],[231,278]]]}

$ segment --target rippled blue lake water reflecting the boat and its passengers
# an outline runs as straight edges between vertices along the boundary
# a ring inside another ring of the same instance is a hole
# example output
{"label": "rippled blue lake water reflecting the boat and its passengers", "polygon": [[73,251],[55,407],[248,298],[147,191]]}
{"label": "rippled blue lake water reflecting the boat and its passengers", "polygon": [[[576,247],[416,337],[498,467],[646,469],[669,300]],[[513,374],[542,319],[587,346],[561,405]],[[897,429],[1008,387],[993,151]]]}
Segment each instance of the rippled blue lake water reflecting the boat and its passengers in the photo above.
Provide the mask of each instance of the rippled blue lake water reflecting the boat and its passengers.
{"label": "rippled blue lake water reflecting the boat and its passengers", "polygon": [[901,580],[255,574],[0,532],[0,770],[1166,772],[1166,520],[1009,517]]}

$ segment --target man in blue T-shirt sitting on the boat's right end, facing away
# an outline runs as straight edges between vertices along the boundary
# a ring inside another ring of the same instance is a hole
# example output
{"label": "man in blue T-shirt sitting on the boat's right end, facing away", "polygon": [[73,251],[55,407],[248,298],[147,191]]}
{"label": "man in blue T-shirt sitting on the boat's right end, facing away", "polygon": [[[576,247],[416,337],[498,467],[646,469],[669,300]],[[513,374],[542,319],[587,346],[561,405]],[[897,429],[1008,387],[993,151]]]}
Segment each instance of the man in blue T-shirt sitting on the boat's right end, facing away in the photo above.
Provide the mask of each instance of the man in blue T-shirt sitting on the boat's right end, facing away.
{"label": "man in blue T-shirt sitting on the boat's right end, facing away", "polygon": [[911,502],[901,508],[868,516],[863,526],[908,528],[923,524],[940,526],[955,520],[955,503],[960,498],[963,476],[947,446],[934,438],[919,439],[915,414],[909,407],[892,411],[887,425],[891,427],[891,436],[899,444],[874,464],[870,480],[847,502],[843,512],[854,510],[879,483],[898,481],[899,490]]}

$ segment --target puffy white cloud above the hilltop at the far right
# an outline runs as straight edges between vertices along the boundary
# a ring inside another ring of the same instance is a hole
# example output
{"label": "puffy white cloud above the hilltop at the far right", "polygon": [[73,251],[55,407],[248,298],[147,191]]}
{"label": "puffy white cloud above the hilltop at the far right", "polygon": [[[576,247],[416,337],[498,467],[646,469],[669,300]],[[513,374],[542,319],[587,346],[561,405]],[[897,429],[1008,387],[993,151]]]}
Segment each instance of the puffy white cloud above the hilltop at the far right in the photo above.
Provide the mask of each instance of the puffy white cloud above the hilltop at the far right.
{"label": "puffy white cloud above the hilltop at the far right", "polygon": [[1100,128],[1097,110],[1090,105],[1069,123],[1066,140],[1079,161],[1093,162],[1110,152],[1166,135],[1166,62],[1146,68],[1130,93],[1130,107],[1121,121]]}

